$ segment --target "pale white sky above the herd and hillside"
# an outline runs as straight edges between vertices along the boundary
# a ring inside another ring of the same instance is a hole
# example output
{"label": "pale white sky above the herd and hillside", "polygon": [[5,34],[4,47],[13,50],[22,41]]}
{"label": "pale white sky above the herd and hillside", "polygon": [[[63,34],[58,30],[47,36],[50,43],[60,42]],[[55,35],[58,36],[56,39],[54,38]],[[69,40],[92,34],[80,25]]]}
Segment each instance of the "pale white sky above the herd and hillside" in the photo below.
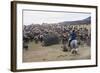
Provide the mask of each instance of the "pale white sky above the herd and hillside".
{"label": "pale white sky above the herd and hillside", "polygon": [[53,12],[53,11],[23,11],[23,24],[59,23],[63,21],[82,20],[91,16],[90,13]]}

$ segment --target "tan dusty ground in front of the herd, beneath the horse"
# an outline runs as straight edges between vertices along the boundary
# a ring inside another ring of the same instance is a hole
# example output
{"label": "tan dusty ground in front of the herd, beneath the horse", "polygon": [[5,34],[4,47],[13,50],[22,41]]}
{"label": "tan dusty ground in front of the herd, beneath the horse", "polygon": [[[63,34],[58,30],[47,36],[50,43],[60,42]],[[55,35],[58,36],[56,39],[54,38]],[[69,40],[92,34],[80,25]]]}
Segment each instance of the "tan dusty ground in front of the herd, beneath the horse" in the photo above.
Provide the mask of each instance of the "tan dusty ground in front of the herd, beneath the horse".
{"label": "tan dusty ground in front of the herd, beneath the horse", "polygon": [[90,59],[90,47],[79,46],[78,55],[63,52],[61,44],[42,47],[41,44],[29,43],[29,50],[23,50],[23,62],[61,61]]}

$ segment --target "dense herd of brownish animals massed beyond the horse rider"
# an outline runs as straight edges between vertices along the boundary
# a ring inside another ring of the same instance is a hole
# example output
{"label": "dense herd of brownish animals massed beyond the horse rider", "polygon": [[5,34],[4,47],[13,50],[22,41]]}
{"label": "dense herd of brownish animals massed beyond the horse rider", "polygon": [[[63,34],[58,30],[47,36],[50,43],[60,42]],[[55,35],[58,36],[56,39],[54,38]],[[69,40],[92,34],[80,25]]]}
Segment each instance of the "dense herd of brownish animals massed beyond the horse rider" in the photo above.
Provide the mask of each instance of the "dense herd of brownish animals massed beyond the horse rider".
{"label": "dense herd of brownish animals massed beyond the horse rider", "polygon": [[63,35],[66,35],[66,42],[69,43],[70,33],[75,30],[79,45],[91,45],[90,25],[39,25],[31,24],[23,26],[23,48],[28,50],[29,42],[41,43],[42,46],[54,44],[63,45]]}

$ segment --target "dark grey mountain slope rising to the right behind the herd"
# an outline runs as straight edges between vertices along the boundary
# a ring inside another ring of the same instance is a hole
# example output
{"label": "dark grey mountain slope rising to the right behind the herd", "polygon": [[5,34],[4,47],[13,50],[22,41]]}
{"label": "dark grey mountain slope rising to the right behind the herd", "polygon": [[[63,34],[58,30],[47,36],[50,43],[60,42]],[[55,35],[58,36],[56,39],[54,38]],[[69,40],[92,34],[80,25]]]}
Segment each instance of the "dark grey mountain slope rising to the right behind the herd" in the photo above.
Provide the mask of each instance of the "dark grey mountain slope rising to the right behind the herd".
{"label": "dark grey mountain slope rising to the right behind the herd", "polygon": [[64,22],[60,22],[59,24],[63,24],[63,25],[67,25],[67,24],[74,24],[74,25],[77,25],[77,24],[91,24],[91,17],[88,17],[88,18],[85,18],[83,20],[76,20],[76,21],[64,21]]}

